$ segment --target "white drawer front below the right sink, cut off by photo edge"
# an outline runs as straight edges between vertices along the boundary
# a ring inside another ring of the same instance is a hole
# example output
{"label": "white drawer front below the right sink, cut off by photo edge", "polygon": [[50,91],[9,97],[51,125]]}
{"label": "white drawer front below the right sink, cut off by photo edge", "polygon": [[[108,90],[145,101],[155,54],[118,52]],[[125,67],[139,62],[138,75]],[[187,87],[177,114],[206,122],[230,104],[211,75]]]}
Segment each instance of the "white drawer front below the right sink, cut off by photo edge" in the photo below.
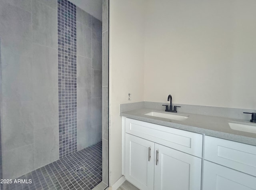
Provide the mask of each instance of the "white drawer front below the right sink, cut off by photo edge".
{"label": "white drawer front below the right sink, cut off by photo edge", "polygon": [[204,159],[256,176],[256,146],[205,136]]}

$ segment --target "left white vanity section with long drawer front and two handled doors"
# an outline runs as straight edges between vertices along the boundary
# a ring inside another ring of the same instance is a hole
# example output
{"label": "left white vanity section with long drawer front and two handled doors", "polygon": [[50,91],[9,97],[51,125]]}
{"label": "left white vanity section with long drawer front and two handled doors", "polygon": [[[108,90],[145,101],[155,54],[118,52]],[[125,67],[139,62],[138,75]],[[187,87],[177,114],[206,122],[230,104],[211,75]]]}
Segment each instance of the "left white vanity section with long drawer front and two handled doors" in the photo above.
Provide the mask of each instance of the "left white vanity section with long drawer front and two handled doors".
{"label": "left white vanity section with long drawer front and two handled doors", "polygon": [[141,190],[200,190],[202,135],[123,118],[123,139],[122,174]]}

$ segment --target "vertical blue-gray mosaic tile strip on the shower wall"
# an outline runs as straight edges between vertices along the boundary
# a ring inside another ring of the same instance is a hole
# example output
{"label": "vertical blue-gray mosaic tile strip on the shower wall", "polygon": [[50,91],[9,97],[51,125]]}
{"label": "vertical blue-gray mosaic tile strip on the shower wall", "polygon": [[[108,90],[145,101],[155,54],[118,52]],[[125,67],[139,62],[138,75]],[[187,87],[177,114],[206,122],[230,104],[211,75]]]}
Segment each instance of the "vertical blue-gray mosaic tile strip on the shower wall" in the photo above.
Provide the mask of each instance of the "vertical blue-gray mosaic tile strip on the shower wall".
{"label": "vertical blue-gray mosaic tile strip on the shower wall", "polygon": [[77,151],[76,6],[58,0],[60,158]]}

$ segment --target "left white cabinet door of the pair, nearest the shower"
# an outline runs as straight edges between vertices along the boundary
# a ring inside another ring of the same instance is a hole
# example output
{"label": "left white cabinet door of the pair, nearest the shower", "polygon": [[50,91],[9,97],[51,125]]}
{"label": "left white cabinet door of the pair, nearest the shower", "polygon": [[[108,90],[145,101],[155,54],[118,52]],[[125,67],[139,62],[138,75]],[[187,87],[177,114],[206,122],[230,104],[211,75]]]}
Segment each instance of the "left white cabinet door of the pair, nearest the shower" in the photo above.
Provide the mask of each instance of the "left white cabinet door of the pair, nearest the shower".
{"label": "left white cabinet door of the pair, nearest the shower", "polygon": [[153,190],[154,143],[126,133],[125,144],[126,179],[141,190]]}

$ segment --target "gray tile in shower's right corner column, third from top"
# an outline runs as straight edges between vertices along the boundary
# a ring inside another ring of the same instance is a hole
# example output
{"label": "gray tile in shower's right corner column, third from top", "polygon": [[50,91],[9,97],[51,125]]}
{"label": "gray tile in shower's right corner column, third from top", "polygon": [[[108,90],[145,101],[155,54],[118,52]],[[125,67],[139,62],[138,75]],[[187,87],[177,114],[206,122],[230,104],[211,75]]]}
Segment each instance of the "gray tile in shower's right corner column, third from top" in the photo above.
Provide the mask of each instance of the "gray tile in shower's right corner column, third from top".
{"label": "gray tile in shower's right corner column, third from top", "polygon": [[92,69],[92,97],[102,97],[102,71]]}

